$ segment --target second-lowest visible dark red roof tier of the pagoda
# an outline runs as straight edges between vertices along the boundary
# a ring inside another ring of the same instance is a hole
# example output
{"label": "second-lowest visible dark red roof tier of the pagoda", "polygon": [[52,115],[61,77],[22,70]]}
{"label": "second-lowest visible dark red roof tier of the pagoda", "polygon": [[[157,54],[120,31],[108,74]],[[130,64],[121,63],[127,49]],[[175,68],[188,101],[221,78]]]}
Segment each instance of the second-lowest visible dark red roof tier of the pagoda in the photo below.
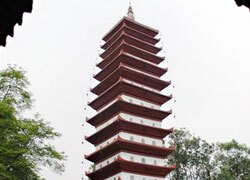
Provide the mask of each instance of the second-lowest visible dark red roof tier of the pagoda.
{"label": "second-lowest visible dark red roof tier of the pagoda", "polygon": [[175,147],[160,147],[150,144],[143,144],[135,141],[129,141],[121,138],[114,139],[113,142],[103,146],[95,152],[85,155],[85,159],[98,163],[106,158],[109,158],[119,152],[128,152],[134,154],[144,154],[146,156],[165,158],[175,151]]}

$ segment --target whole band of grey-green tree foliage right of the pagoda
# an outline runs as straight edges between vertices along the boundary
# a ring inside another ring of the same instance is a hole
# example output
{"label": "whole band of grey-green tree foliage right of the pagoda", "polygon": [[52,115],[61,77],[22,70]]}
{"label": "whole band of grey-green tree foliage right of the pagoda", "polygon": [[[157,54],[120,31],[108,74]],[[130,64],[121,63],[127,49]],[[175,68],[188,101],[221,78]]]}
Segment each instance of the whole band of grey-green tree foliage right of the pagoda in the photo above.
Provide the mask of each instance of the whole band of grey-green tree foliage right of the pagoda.
{"label": "whole band of grey-green tree foliage right of the pagoda", "polygon": [[208,143],[178,129],[169,136],[169,145],[176,147],[167,159],[176,164],[170,180],[250,180],[250,148],[235,140]]}

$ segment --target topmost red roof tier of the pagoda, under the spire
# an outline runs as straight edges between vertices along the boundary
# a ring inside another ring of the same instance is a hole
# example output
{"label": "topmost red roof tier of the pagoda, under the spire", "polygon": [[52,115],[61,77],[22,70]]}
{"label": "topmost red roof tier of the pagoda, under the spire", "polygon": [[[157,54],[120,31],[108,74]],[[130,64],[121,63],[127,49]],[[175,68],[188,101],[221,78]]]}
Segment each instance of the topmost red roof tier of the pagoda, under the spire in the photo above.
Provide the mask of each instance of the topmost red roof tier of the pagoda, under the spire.
{"label": "topmost red roof tier of the pagoda, under the spire", "polygon": [[123,17],[120,21],[118,21],[111,29],[110,31],[108,31],[104,36],[103,36],[103,40],[104,41],[108,41],[109,38],[111,38],[113,36],[113,34],[115,34],[119,29],[120,27],[123,25],[123,24],[126,24],[128,27],[132,28],[132,29],[135,29],[137,31],[140,31],[140,32],[143,32],[151,37],[155,37],[159,31],[156,30],[156,29],[153,29],[149,26],[146,26],[144,24],[141,24],[135,20],[132,20],[128,17]]}

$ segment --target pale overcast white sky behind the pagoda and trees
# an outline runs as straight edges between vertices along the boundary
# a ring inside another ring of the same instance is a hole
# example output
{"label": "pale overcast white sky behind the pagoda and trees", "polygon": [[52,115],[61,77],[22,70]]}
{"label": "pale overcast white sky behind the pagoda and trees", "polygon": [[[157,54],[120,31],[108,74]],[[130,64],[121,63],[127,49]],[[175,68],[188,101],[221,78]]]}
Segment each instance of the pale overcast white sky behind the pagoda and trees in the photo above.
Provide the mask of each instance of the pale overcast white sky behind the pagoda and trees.
{"label": "pale overcast white sky behind the pagoda and trees", "polygon": [[[24,15],[6,48],[0,48],[0,67],[17,64],[28,73],[41,113],[62,137],[55,142],[68,155],[63,176],[44,170],[48,180],[81,179],[83,154],[93,147],[81,144],[91,126],[81,126],[90,110],[86,93],[97,61],[102,36],[128,8],[128,0],[36,0]],[[136,20],[159,29],[168,61],[166,80],[176,103],[176,118],[164,126],[187,127],[209,142],[232,138],[250,145],[250,12],[234,0],[136,0]],[[159,43],[158,46],[162,46]],[[90,97],[90,98],[93,98]],[[87,163],[86,161],[84,162]],[[84,169],[85,167],[85,169]]]}

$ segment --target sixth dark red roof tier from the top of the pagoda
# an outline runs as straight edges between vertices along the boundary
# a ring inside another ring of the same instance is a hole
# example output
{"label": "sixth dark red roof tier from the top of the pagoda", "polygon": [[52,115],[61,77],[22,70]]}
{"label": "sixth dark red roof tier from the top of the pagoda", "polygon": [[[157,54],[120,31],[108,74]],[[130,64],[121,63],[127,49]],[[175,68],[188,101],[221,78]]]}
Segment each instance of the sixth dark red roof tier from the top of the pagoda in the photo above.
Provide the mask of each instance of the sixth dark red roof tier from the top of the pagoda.
{"label": "sixth dark red roof tier from the top of the pagoda", "polygon": [[111,73],[108,77],[101,81],[96,87],[91,89],[91,92],[96,95],[101,95],[106,90],[108,90],[113,84],[119,81],[120,78],[139,83],[141,85],[153,88],[158,91],[163,90],[171,84],[170,81],[163,81],[159,78],[142,74],[138,71],[132,70],[131,68],[124,66],[123,64],[120,64],[120,66],[116,68],[113,73]]}

